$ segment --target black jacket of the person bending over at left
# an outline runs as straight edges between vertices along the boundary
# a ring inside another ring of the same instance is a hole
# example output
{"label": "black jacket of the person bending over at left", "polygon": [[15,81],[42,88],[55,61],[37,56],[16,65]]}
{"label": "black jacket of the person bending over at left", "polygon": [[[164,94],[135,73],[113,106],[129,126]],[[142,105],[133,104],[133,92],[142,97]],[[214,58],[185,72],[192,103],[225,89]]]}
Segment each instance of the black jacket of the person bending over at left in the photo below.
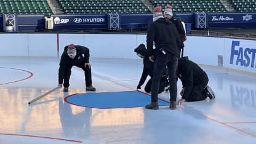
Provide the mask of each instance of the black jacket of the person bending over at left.
{"label": "black jacket of the person bending over at left", "polygon": [[75,45],[76,47],[76,57],[74,59],[68,56],[67,50],[68,46],[64,47],[62,57],[60,58],[60,67],[58,68],[58,83],[62,84],[64,79],[64,71],[68,66],[73,65],[84,65],[84,63],[89,63],[90,51],[87,47]]}

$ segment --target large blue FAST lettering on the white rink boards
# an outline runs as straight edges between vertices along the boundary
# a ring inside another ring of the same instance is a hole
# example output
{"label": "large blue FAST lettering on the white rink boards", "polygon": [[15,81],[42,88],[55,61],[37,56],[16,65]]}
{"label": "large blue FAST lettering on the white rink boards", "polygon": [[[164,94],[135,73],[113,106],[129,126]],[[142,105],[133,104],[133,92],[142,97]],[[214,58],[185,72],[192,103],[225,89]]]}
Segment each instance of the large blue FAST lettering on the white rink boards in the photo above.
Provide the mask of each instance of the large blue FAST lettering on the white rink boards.
{"label": "large blue FAST lettering on the white rink boards", "polygon": [[231,54],[230,54],[230,64],[250,66],[255,68],[255,53],[256,49],[239,47],[240,41],[232,41]]}

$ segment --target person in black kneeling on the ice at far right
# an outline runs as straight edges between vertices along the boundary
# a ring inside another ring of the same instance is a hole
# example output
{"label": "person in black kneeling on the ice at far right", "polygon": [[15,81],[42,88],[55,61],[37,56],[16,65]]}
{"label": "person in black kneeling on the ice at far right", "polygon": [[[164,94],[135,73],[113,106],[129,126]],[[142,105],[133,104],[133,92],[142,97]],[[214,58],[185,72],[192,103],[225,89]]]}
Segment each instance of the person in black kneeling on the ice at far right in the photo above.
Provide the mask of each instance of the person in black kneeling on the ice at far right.
{"label": "person in black kneeling on the ice at far right", "polygon": [[180,92],[182,98],[178,100],[177,105],[181,105],[184,100],[194,102],[207,97],[215,98],[214,92],[207,86],[209,79],[206,72],[188,57],[178,60],[178,78],[182,81],[183,88]]}

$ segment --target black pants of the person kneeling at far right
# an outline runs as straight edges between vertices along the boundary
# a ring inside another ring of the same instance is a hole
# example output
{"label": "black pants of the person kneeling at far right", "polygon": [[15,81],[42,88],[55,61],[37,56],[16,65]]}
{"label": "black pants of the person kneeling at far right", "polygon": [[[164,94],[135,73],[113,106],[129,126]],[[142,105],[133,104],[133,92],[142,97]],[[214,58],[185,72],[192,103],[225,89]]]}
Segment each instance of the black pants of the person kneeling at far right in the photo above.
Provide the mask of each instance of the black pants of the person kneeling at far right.
{"label": "black pants of the person kneeling at far right", "polygon": [[[202,78],[202,81],[200,84],[196,84],[192,88],[192,92],[188,98],[186,98],[186,102],[195,102],[204,100],[207,98],[205,88],[208,84],[209,79],[206,77]],[[186,87],[185,87],[186,89]]]}

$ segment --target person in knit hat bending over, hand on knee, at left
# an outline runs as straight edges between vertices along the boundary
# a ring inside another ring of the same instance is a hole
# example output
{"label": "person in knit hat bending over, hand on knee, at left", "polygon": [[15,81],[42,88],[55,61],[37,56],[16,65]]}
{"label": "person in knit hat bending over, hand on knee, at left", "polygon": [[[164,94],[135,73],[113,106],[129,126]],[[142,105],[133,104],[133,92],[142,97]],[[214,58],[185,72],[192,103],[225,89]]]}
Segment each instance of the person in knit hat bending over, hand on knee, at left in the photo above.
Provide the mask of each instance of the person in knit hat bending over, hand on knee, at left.
{"label": "person in knit hat bending over, hand on knee, at left", "polygon": [[89,63],[89,49],[84,46],[70,44],[64,47],[62,57],[60,58],[60,67],[58,68],[58,87],[64,86],[63,91],[68,92],[70,86],[70,75],[72,66],[78,66],[84,70],[86,80],[86,90],[95,91],[92,86],[91,65]]}

